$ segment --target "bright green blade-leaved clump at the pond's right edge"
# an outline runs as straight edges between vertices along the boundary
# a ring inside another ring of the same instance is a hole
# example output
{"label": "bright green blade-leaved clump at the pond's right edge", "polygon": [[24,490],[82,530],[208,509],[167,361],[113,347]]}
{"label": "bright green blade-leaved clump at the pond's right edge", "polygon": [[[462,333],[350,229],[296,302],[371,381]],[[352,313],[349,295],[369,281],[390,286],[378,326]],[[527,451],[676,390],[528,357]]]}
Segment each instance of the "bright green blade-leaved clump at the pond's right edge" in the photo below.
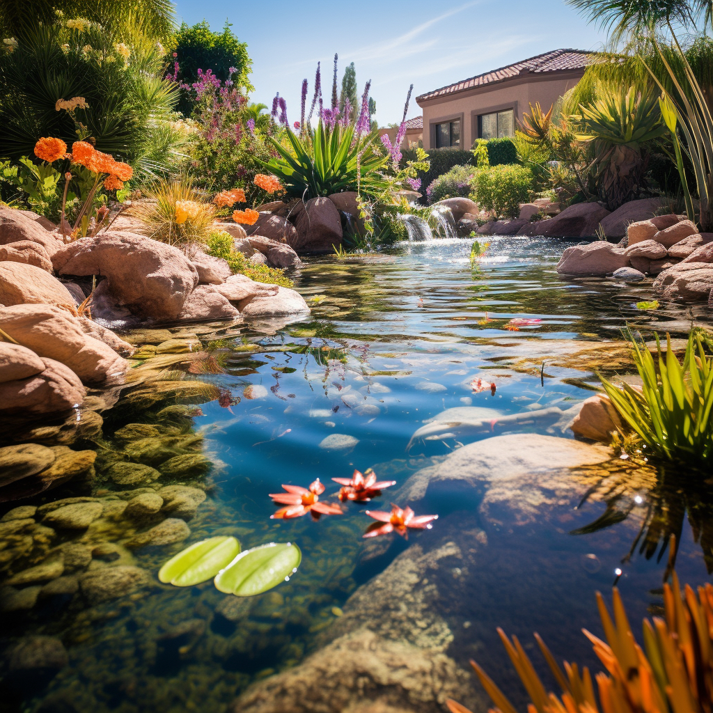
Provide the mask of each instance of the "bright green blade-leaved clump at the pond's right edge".
{"label": "bright green blade-leaved clump at the pond's right edge", "polygon": [[664,354],[656,337],[657,359],[632,340],[632,356],[642,391],[617,389],[603,377],[607,395],[627,424],[662,458],[710,466],[713,460],[713,359],[698,334],[690,334],[683,364],[666,335]]}

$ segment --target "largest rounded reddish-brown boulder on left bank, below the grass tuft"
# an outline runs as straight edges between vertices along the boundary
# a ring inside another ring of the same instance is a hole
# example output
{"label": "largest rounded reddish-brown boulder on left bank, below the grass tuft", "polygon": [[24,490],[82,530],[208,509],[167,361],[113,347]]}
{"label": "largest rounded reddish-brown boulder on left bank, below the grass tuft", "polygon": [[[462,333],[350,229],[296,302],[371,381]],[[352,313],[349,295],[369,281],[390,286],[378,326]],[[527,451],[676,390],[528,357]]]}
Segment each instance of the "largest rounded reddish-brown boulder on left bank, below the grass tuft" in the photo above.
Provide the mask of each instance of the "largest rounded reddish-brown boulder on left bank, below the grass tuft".
{"label": "largest rounded reddish-brown boulder on left bank, below the grass tuft", "polygon": [[176,319],[198,284],[197,270],[178,248],[130,232],[81,238],[52,262],[60,275],[106,276],[118,304],[153,319]]}

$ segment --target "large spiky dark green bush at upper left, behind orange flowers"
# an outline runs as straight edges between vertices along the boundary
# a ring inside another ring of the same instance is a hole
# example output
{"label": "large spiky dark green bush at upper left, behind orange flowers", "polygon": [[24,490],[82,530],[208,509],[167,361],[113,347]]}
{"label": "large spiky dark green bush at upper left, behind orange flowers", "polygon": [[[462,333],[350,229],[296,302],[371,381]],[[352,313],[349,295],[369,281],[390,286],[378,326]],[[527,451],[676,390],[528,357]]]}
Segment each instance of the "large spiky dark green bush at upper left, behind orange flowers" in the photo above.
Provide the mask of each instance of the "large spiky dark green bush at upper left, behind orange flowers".
{"label": "large spiky dark green bush at upper left, behind orange flowers", "polygon": [[[120,42],[130,51],[126,59]],[[126,29],[112,34],[91,24],[36,26],[14,51],[0,53],[0,155],[31,155],[42,136],[71,145],[74,120],[57,111],[56,102],[79,96],[88,107],[76,113],[96,148],[142,168],[177,98],[160,77],[161,56],[153,41]]]}

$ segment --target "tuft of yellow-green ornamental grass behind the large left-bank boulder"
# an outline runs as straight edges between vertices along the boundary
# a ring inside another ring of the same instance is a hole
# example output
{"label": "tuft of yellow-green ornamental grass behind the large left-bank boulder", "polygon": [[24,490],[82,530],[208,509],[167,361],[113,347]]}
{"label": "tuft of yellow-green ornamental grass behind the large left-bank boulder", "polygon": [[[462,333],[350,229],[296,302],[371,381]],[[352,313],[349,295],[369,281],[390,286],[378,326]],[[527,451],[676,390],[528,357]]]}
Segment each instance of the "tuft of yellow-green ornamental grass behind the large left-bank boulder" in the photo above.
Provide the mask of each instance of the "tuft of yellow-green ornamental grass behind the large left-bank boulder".
{"label": "tuft of yellow-green ornamental grass behind the large left-bank boulder", "polygon": [[148,199],[131,209],[131,215],[148,228],[148,236],[168,245],[206,242],[215,207],[193,188],[188,179],[160,180],[145,192]]}

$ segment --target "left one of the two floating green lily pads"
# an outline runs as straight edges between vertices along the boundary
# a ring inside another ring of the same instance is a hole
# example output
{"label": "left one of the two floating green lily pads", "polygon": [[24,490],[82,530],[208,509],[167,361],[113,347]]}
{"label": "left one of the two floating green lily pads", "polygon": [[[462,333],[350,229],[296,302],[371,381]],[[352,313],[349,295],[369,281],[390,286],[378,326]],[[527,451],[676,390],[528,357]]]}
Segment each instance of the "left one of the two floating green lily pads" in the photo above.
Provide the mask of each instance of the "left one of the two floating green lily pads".
{"label": "left one of the two floating green lily pads", "polygon": [[176,587],[192,587],[207,582],[240,553],[234,537],[212,537],[190,545],[170,558],[158,572],[158,579]]}

